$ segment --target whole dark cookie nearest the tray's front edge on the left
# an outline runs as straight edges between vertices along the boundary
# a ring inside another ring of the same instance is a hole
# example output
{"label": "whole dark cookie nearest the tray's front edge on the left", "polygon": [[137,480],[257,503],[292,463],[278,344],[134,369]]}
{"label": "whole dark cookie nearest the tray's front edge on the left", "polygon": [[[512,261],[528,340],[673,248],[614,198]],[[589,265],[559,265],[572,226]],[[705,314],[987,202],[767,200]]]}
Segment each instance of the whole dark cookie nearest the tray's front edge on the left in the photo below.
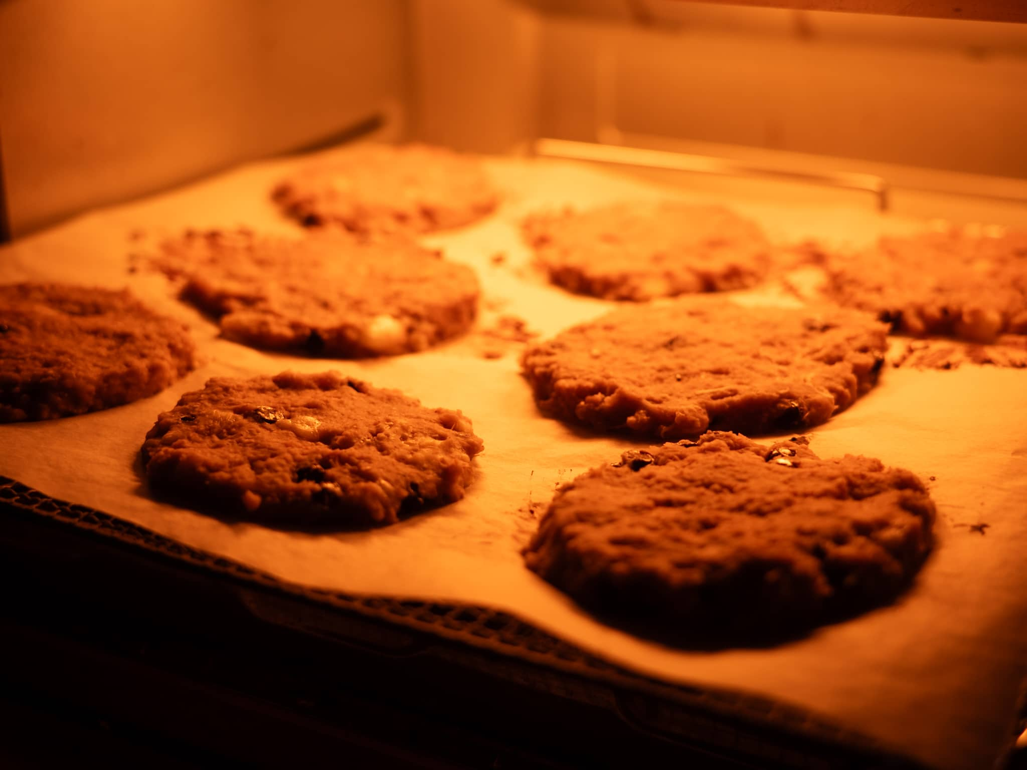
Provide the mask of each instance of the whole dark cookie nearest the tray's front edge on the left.
{"label": "whole dark cookie nearest the tray's front edge on the left", "polygon": [[463,497],[482,451],[470,420],[337,372],[207,381],[146,434],[160,494],[255,522],[394,524]]}

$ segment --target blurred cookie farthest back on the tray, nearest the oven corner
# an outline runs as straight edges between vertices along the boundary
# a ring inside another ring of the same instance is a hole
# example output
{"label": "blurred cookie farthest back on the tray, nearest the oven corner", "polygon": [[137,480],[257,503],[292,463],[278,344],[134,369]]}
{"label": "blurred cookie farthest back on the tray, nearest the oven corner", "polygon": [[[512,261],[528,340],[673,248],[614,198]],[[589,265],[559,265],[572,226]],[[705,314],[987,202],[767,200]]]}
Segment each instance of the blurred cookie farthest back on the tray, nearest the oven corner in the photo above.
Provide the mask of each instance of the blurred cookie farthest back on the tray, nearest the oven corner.
{"label": "blurred cookie farthest back on the tray, nearest the oven corner", "polygon": [[427,233],[468,225],[499,196],[476,160],[427,145],[363,145],[300,168],[272,198],[310,227]]}

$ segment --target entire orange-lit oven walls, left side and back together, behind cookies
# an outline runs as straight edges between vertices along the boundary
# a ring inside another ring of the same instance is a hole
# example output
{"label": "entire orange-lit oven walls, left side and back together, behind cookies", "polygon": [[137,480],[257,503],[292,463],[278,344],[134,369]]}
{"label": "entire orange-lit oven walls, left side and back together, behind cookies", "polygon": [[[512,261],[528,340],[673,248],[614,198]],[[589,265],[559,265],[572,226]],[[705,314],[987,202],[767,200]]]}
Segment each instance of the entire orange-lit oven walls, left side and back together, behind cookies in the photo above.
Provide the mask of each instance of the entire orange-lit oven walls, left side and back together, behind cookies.
{"label": "entire orange-lit oven walls, left side and back together, behind cookies", "polygon": [[1027,199],[1022,24],[679,0],[6,0],[0,51],[14,237],[362,131],[770,158],[928,188],[945,171],[948,192]]}

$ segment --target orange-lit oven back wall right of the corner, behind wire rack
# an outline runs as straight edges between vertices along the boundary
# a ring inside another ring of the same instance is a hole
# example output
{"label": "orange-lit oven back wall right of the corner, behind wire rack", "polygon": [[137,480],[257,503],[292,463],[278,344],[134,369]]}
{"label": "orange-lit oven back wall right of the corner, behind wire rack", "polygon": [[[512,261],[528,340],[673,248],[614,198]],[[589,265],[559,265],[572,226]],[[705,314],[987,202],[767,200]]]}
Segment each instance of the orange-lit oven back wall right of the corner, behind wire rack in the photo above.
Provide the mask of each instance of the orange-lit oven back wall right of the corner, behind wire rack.
{"label": "orange-lit oven back wall right of the corner, behind wire rack", "polygon": [[1027,25],[671,3],[646,20],[553,14],[543,30],[548,136],[1027,177]]}

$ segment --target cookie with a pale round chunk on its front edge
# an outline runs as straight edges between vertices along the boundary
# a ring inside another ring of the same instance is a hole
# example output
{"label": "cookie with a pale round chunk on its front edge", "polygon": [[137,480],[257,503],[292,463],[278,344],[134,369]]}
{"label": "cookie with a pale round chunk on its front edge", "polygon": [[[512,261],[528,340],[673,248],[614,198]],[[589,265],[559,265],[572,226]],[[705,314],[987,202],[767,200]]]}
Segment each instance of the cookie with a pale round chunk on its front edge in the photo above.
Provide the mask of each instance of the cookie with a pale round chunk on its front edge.
{"label": "cookie with a pale round chunk on its front edge", "polygon": [[412,240],[342,231],[300,239],[249,230],[187,232],[152,264],[229,340],[355,358],[423,350],[465,332],[478,278]]}

